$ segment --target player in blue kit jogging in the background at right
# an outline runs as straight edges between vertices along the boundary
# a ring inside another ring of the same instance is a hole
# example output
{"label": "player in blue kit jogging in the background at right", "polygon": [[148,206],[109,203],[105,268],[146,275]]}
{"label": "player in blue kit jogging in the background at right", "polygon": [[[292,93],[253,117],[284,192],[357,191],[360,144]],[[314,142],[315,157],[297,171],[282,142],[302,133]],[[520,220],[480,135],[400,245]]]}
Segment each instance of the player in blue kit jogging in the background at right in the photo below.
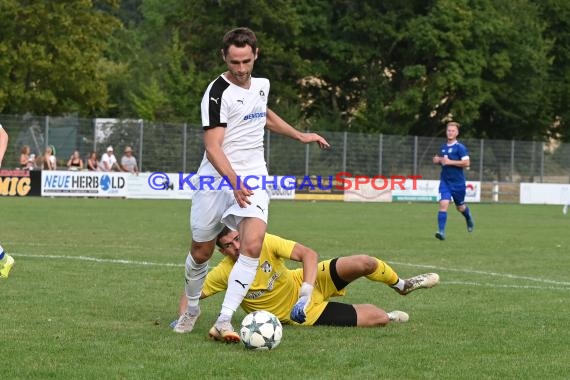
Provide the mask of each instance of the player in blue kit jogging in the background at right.
{"label": "player in blue kit jogging in the background at right", "polygon": [[475,227],[469,207],[465,204],[465,175],[463,168],[469,167],[469,152],[465,145],[457,141],[460,124],[450,121],[446,125],[447,142],[441,145],[440,155],[433,157],[433,163],[441,165],[439,182],[439,212],[437,213],[438,231],[435,237],[445,240],[447,208],[453,198],[457,211],[463,214],[467,223],[467,231]]}

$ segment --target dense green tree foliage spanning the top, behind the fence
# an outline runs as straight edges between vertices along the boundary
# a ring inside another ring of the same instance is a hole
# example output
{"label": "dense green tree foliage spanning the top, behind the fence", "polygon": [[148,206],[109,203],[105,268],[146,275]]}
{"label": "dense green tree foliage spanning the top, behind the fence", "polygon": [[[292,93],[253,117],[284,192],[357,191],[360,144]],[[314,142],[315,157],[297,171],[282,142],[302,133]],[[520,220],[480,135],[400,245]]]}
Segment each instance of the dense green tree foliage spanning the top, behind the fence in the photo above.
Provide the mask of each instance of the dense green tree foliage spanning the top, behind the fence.
{"label": "dense green tree foliage spanning the top, behind the fence", "polygon": [[248,26],[254,75],[300,128],[433,136],[453,118],[472,137],[570,138],[565,0],[114,5],[3,1],[0,112],[199,123],[223,34]]}

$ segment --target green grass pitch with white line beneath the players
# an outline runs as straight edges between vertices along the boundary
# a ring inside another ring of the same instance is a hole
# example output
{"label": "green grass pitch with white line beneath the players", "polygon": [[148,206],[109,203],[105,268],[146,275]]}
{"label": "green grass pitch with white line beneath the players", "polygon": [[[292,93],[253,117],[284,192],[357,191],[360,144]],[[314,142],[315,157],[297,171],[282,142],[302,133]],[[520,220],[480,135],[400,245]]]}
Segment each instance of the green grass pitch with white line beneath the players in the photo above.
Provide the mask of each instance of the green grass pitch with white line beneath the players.
{"label": "green grass pitch with white line beneath the players", "polygon": [[[385,328],[285,326],[250,352],[207,339],[222,297],[195,331],[176,317],[189,246],[186,201],[0,198],[2,379],[563,379],[570,374],[570,216],[561,206],[473,204],[475,232],[436,204],[271,204],[269,232],[321,258],[367,253],[401,277],[441,283],[406,297],[360,279],[344,302],[410,314]],[[220,254],[216,254],[212,264]],[[237,327],[244,316],[234,318]]]}

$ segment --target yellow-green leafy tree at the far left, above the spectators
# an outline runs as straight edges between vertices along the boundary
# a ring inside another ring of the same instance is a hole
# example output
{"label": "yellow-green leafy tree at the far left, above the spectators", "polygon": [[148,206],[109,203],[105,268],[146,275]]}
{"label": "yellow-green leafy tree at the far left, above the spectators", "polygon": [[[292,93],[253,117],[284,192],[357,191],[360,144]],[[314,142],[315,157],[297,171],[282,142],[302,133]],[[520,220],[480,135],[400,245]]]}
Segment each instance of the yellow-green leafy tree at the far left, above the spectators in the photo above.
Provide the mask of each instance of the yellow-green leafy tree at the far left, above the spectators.
{"label": "yellow-green leafy tree at the far left, above the spectators", "polygon": [[98,5],[116,0],[0,4],[0,111],[94,115],[105,110],[104,60],[120,23]]}

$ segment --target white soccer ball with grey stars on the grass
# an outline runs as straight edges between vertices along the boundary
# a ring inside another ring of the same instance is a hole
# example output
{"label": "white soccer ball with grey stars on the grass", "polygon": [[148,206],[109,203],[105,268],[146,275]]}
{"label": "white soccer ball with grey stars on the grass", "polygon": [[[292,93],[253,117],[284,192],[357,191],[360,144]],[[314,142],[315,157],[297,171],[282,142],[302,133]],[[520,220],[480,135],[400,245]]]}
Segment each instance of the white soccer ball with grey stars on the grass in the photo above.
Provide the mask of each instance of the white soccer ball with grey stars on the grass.
{"label": "white soccer ball with grey stars on the grass", "polygon": [[268,311],[254,311],[241,321],[241,341],[249,350],[272,350],[279,346],[282,336],[281,322]]}

